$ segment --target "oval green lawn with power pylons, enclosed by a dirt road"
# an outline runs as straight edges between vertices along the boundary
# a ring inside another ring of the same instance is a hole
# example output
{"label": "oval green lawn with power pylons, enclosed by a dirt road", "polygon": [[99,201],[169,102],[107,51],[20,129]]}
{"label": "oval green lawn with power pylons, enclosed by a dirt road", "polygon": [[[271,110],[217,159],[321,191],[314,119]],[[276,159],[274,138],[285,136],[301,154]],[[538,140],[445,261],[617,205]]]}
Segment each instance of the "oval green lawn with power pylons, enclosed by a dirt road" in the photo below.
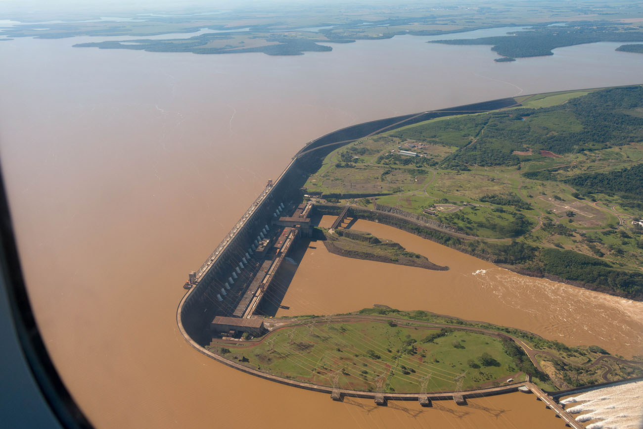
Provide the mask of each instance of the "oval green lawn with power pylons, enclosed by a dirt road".
{"label": "oval green lawn with power pylons, enclosed by a dirt road", "polygon": [[[255,347],[230,349],[246,365],[270,374],[356,390],[431,392],[501,384],[518,372],[502,343],[484,334],[453,331],[426,342],[435,329],[382,322],[321,323],[280,329]],[[482,360],[484,353],[491,360]],[[461,381],[458,384],[458,379]]]}

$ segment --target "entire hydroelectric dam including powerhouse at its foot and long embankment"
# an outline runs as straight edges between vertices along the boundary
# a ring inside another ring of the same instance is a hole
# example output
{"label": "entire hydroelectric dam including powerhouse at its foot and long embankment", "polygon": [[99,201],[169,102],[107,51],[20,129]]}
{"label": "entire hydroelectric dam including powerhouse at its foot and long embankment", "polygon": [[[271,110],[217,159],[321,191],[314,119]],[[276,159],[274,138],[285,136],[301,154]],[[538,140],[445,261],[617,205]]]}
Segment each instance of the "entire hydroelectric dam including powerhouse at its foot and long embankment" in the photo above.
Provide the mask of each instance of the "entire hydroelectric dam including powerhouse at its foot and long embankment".
{"label": "entire hydroelectric dam including powerhouse at its foot and long embankment", "polygon": [[177,308],[183,337],[200,352],[213,336],[265,333],[258,310],[282,262],[299,237],[311,235],[311,204],[300,204],[302,187],[321,162],[341,145],[381,132],[453,114],[484,113],[519,105],[514,98],[461,105],[359,123],[309,141],[250,205],[196,271]]}

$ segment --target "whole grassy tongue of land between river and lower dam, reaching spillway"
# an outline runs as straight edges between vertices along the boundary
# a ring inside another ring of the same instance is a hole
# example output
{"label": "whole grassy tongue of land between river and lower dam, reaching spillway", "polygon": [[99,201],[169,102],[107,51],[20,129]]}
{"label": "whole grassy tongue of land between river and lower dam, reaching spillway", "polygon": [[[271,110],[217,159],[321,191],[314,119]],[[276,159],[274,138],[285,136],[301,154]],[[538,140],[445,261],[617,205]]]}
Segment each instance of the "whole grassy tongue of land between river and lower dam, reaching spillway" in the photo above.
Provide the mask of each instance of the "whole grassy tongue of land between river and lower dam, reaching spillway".
{"label": "whole grassy tongue of land between river and lower dam, reaching spillway", "polygon": [[[526,373],[539,387],[557,390],[643,374],[640,363],[603,360],[592,365],[610,356],[600,347],[568,347],[527,331],[427,311],[379,306],[352,313],[349,320],[309,315],[284,322],[285,327],[263,338],[238,343],[213,339],[208,349],[275,376],[368,392],[494,387],[509,378],[524,379]],[[500,340],[498,334],[512,340]],[[525,350],[544,372],[532,365]]]}

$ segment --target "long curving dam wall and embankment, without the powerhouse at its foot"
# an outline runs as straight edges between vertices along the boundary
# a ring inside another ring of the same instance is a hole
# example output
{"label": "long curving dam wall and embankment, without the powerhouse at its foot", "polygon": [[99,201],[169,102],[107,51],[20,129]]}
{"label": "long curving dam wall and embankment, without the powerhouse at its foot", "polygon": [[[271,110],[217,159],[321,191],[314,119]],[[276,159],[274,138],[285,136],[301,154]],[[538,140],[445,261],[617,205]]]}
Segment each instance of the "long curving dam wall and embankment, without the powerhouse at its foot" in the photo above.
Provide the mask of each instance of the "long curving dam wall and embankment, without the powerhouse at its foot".
{"label": "long curving dam wall and embankment, without the powerhouse at its foot", "polygon": [[[272,228],[280,205],[299,203],[300,189],[327,154],[351,141],[381,132],[452,114],[480,113],[516,105],[513,98],[449,107],[359,123],[310,141],[299,151],[274,183],[269,183],[206,262],[190,275],[189,288],[179,304],[177,322],[184,336],[203,346],[212,340],[210,324],[215,316],[232,316],[244,297],[248,284],[261,264],[251,256],[252,246],[263,238],[266,226]],[[238,310],[237,310],[238,313]],[[189,340],[188,340],[189,341]]]}

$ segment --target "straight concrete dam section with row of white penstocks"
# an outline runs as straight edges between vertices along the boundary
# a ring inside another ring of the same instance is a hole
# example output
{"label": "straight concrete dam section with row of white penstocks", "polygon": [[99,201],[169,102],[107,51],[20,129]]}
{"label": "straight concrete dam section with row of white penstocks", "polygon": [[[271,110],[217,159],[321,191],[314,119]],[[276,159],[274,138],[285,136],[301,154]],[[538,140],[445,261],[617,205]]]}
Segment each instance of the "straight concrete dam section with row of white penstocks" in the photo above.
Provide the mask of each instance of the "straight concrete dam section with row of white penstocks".
{"label": "straight concrete dam section with row of white penstocks", "polygon": [[[271,253],[276,237],[284,229],[281,226],[276,228],[269,226],[275,219],[272,214],[280,208],[280,205],[284,206],[280,211],[289,210],[284,203],[277,203],[274,196],[278,194],[278,201],[296,201],[301,198],[300,188],[305,183],[305,173],[299,167],[302,162],[301,160],[291,161],[280,178],[266,187],[248,212],[235,224],[214,255],[206,260],[206,263],[191,278],[191,293],[184,297],[177,316],[186,336],[195,343],[203,346],[212,340],[213,334],[228,334],[231,333],[230,331],[238,333],[246,326],[242,323],[235,325],[228,321],[221,327],[213,327],[212,322],[215,317],[231,317],[239,311],[242,316],[248,312],[248,309],[251,309],[249,313],[251,315],[260,306],[264,292],[275,276],[281,260],[285,257],[285,254]],[[305,235],[307,234],[306,231]],[[293,240],[295,236],[296,233],[293,234]],[[261,251],[257,251],[259,249]],[[271,259],[273,265],[266,268],[270,270],[269,275],[260,272],[264,259],[273,257],[274,259]],[[255,278],[258,278],[255,283],[261,287],[248,294],[248,289]],[[239,311],[237,311],[238,307],[241,307]],[[222,332],[222,329],[234,326],[239,330],[230,329]],[[252,329],[253,332],[259,333],[254,327]]]}

